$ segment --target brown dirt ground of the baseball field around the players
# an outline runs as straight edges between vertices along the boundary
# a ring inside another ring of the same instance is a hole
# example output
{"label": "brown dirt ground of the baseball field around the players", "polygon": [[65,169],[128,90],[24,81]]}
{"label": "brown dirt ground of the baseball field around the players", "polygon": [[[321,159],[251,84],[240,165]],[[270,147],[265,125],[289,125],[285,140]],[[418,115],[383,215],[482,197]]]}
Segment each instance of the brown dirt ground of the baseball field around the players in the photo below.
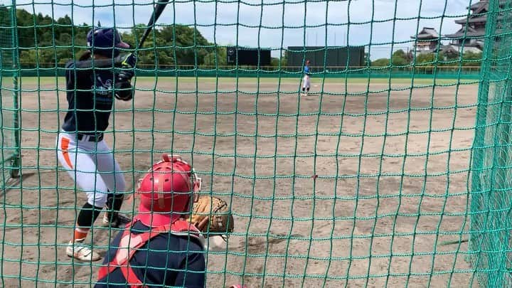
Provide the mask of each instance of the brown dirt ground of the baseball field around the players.
{"label": "brown dirt ground of the baseball field around the players", "polygon": [[[85,203],[55,154],[65,83],[22,85],[23,178],[2,197],[1,284],[89,287],[101,262],[64,247]],[[477,285],[465,260],[477,85],[329,80],[319,95],[316,80],[297,97],[298,85],[146,78],[133,103],[115,103],[106,141],[129,191],[173,151],[203,193],[230,203],[235,233],[208,254],[207,287]],[[117,231],[97,222],[103,253]]]}

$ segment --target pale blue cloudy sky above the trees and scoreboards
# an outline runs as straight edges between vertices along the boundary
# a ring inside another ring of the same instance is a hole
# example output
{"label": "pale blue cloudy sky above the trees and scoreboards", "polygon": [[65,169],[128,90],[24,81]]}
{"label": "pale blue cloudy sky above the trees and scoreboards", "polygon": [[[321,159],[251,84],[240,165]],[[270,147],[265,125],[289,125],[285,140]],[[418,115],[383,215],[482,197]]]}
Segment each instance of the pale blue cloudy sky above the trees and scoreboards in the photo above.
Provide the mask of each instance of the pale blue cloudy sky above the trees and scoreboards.
{"label": "pale blue cloudy sky above the trees and scoreboards", "polygon": [[[272,55],[287,46],[348,43],[370,46],[371,58],[376,59],[389,57],[392,42],[393,50],[410,48],[410,36],[424,26],[442,34],[456,32],[460,26],[454,20],[466,16],[471,1],[478,0],[176,0],[157,24],[196,26],[210,42],[272,48]],[[147,23],[154,1],[17,0],[16,4],[53,18],[68,14],[75,24],[100,21],[102,26],[130,28]]]}

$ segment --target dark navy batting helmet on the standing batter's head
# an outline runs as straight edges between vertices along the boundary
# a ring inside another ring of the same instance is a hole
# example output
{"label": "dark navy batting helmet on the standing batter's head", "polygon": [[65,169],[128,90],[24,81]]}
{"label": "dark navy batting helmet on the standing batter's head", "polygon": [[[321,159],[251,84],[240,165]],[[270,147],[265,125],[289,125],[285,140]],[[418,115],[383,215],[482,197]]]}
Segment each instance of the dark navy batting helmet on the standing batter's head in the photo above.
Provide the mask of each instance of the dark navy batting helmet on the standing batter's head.
{"label": "dark navy batting helmet on the standing batter's head", "polygon": [[105,57],[117,57],[117,48],[129,48],[127,43],[121,40],[121,35],[115,28],[93,28],[87,33],[87,46],[92,53]]}

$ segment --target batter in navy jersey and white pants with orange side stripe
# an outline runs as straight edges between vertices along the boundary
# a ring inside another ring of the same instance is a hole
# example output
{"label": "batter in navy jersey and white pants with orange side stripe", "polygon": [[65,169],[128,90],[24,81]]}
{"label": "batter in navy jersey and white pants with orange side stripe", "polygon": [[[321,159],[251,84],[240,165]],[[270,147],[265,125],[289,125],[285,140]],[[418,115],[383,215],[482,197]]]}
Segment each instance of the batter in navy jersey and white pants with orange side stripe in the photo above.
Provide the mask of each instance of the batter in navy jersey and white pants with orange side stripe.
{"label": "batter in navy jersey and white pants with orange side stripe", "polygon": [[[85,238],[103,207],[107,206],[107,213],[102,225],[118,227],[130,221],[119,214],[126,184],[103,133],[109,124],[114,97],[132,99],[130,82],[134,73],[90,68],[90,60],[112,59],[119,55],[119,48],[129,48],[116,29],[90,30],[87,46],[89,50],[79,61],[71,60],[65,65],[68,112],[57,137],[57,154],[77,190],[87,194],[66,254],[82,261],[97,261],[101,256],[85,245]],[[87,62],[89,68],[85,68]]]}

